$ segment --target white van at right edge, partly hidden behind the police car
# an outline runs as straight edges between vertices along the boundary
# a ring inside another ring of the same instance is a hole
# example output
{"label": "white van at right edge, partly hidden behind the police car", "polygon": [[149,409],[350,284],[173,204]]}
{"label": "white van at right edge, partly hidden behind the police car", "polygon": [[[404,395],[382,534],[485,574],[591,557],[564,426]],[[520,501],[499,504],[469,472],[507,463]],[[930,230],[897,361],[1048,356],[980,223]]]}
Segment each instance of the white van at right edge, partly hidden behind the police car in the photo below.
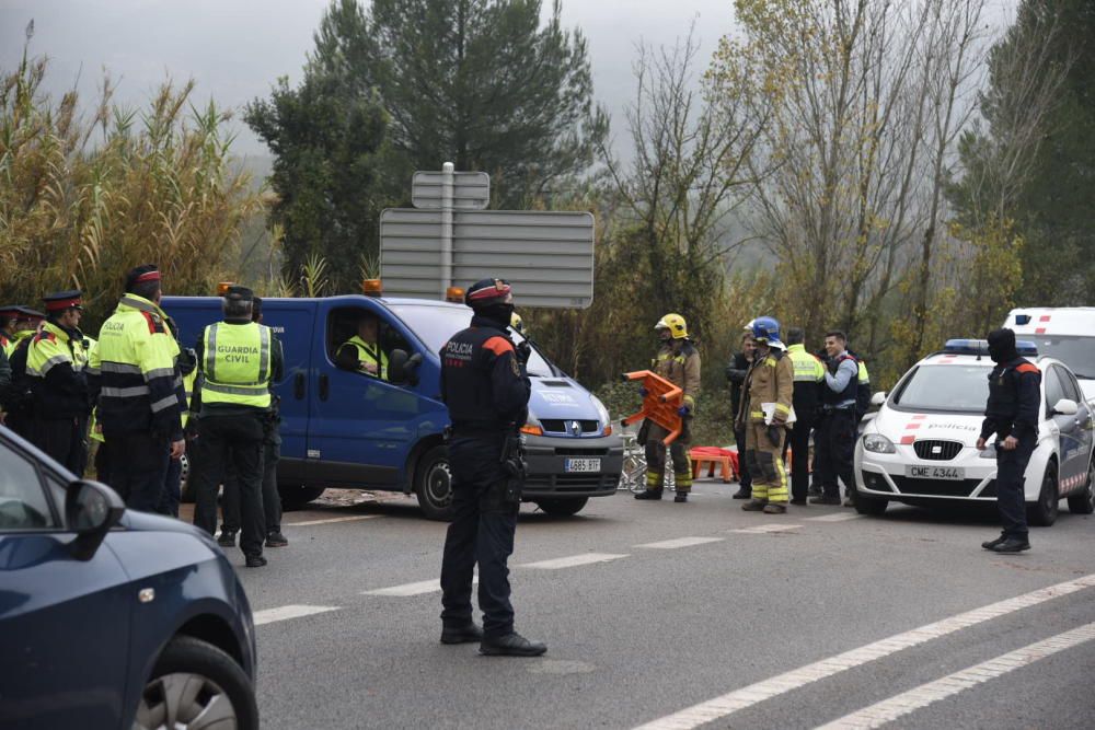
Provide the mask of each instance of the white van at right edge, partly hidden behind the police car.
{"label": "white van at right edge, partly hidden behind the police car", "polygon": [[1064,361],[1088,406],[1095,406],[1095,306],[1026,306],[1007,313],[1004,326],[1038,352]]}

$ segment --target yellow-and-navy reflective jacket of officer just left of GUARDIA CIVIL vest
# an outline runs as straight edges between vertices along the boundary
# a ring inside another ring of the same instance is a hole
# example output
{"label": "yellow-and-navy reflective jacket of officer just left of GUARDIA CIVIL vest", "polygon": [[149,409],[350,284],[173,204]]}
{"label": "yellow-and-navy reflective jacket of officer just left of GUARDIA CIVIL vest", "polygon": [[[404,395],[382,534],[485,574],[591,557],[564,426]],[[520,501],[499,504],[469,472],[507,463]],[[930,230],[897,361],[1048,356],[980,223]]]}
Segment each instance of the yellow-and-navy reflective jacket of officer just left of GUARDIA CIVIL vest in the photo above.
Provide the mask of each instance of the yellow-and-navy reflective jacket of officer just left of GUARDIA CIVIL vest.
{"label": "yellow-and-navy reflective jacket of officer just left of GUARDIA CIVIL vest", "polygon": [[107,440],[140,431],[171,441],[183,438],[185,405],[175,386],[178,343],[165,322],[159,306],[127,293],[103,323],[88,380]]}

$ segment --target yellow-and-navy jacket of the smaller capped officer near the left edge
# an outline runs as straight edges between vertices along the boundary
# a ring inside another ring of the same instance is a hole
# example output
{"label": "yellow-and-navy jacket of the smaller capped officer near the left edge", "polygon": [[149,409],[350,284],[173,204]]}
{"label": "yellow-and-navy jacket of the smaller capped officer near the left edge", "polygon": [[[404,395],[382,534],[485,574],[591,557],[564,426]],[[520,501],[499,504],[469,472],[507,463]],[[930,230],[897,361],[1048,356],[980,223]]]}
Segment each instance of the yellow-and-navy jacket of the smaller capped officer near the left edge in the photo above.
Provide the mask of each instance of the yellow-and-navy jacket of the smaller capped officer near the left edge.
{"label": "yellow-and-navy jacket of the smaller capped officer near the left edge", "polygon": [[83,334],[47,321],[26,351],[26,375],[39,418],[83,417],[91,413],[88,354]]}

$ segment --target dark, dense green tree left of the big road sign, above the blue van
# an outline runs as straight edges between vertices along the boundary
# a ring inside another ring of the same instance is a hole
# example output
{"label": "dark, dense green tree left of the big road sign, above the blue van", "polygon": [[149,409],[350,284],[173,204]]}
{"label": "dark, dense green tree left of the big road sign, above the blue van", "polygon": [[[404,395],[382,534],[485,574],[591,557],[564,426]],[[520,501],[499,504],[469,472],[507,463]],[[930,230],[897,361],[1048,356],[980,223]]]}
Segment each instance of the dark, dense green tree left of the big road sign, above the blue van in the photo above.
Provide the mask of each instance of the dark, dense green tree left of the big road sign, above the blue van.
{"label": "dark, dense green tree left of the big road sign, above the blue van", "polygon": [[373,94],[354,88],[309,69],[296,89],[279,79],[244,117],[275,158],[268,224],[281,230],[283,271],[295,278],[316,257],[338,262],[328,275],[339,293],[357,289],[362,256],[377,255],[380,211],[394,184],[384,164],[388,117]]}

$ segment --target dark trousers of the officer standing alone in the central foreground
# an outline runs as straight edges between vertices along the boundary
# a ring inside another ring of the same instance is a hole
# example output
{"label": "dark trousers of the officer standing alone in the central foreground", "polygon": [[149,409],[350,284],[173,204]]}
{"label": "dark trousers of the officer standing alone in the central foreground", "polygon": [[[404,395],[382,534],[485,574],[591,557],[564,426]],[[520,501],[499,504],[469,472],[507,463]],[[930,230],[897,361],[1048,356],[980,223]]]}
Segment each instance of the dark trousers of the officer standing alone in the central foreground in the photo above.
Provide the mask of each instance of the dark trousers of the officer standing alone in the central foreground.
{"label": "dark trousers of the officer standing alone in the central foreground", "polygon": [[479,565],[479,604],[483,633],[514,630],[509,602],[509,567],[520,502],[506,500],[508,474],[502,464],[503,433],[454,437],[449,442],[452,505],[456,518],[445,537],[441,559],[441,622],[465,626],[472,621],[472,577]]}

